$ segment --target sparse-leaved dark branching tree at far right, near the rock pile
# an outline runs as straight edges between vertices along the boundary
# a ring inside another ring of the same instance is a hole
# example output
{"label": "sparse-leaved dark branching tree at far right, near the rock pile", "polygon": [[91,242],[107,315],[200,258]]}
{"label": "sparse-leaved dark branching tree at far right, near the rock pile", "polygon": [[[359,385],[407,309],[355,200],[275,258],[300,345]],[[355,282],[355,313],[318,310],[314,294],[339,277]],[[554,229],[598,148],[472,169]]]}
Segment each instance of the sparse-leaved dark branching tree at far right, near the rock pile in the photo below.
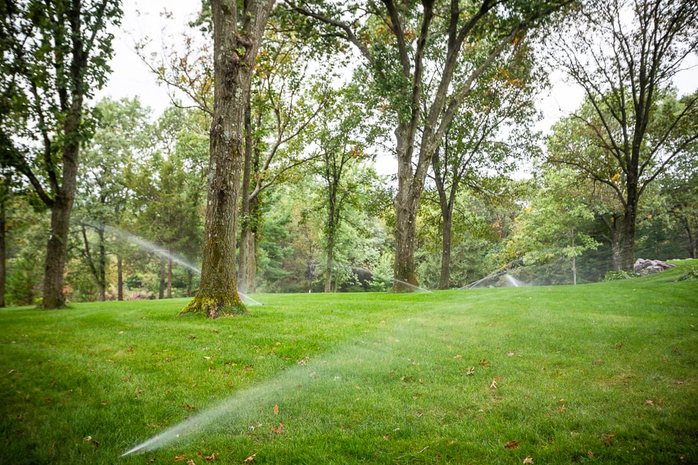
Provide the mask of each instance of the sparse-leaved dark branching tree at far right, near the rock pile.
{"label": "sparse-leaved dark branching tree at far right, near the rock pile", "polygon": [[660,103],[670,98],[671,79],[698,49],[698,3],[588,0],[576,27],[564,27],[551,43],[560,51],[554,63],[584,89],[589,110],[570,118],[587,126],[623,188],[612,181],[613,173],[597,169],[597,158],[554,155],[552,160],[578,167],[616,192],[623,205],[620,267],[632,270],[639,199],[698,137],[694,130],[678,144],[667,144],[683,121],[697,120],[698,93],[684,98],[675,112],[658,114]]}

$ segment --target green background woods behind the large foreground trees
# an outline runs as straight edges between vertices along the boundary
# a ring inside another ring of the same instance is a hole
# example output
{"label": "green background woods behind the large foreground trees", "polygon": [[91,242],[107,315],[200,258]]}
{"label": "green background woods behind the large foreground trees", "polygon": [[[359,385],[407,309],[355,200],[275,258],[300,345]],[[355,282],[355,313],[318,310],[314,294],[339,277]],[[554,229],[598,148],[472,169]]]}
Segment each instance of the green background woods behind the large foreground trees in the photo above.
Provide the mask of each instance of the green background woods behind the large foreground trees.
{"label": "green background woods behind the large foreground trees", "polygon": [[[137,52],[117,48],[110,84],[91,102],[96,125],[80,154],[64,288],[69,301],[191,296],[198,286],[210,30],[198,15],[183,21],[158,9],[140,17],[149,17],[149,38],[133,31],[135,6],[123,8],[115,44],[133,40]],[[350,50],[333,48],[322,36],[308,45],[287,33],[283,21],[281,13],[272,17],[253,78],[239,287],[248,293],[388,290],[396,168],[380,111],[386,104],[366,90],[373,89],[370,79],[350,65]],[[376,30],[376,40],[381,33]],[[553,89],[575,96],[565,104],[572,106],[551,118],[551,107],[540,105],[551,77],[560,79],[564,68],[558,63],[553,71],[554,60],[544,58],[555,55],[546,48],[555,34],[532,35],[523,52],[492,66],[482,78],[489,85],[473,93],[446,132],[419,204],[420,286],[462,287],[511,264],[514,275],[532,284],[593,282],[624,268],[614,236],[622,208],[612,192],[614,185],[624,189],[622,169],[601,166],[593,177],[570,162],[603,160],[584,151],[593,135],[579,124],[593,119],[593,100],[558,80]],[[652,109],[658,128],[671,125],[672,115],[695,113],[695,43],[688,50],[681,61],[686,71],[664,82]],[[124,73],[138,75],[134,70],[143,67],[149,78],[114,90],[117,82],[133,83]],[[144,82],[161,86],[143,88]],[[168,105],[152,99],[163,92],[172,98]],[[651,172],[638,204],[636,257],[696,257],[693,121],[671,133],[680,150],[655,160],[662,169]],[[34,305],[42,293],[50,212],[8,167],[2,199],[3,303]]]}

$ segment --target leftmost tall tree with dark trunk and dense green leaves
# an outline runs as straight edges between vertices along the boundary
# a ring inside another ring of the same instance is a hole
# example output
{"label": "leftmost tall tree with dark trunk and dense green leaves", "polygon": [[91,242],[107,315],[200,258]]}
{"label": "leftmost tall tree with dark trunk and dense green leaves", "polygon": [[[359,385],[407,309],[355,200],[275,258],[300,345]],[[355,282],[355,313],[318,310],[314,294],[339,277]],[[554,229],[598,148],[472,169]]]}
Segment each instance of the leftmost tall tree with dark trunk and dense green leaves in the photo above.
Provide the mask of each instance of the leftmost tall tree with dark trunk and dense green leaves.
{"label": "leftmost tall tree with dark trunk and dense green leaves", "polygon": [[0,160],[26,176],[51,209],[45,309],[65,303],[80,146],[91,132],[84,102],[107,79],[113,37],[107,26],[119,21],[119,3],[26,0],[0,6]]}

